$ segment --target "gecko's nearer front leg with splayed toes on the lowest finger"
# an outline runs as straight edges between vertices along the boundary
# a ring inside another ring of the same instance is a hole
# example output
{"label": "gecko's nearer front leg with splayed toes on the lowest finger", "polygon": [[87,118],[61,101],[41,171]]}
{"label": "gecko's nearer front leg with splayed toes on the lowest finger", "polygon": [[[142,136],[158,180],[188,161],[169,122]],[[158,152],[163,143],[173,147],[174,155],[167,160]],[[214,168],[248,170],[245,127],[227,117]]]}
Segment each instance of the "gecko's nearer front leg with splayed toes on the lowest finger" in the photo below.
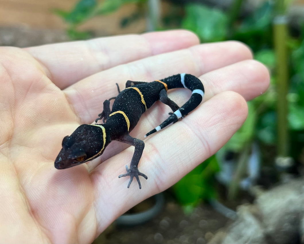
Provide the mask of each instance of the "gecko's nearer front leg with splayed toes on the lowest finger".
{"label": "gecko's nearer front leg with splayed toes on the lowest finger", "polygon": [[131,137],[129,134],[123,136],[122,138],[119,138],[117,141],[125,142],[135,147],[134,154],[130,163],[130,169],[126,165],[127,173],[119,175],[118,178],[130,176],[130,181],[128,183],[129,188],[133,178],[135,177],[138,182],[139,189],[141,189],[139,176],[143,176],[146,180],[148,179],[148,177],[145,174],[141,173],[137,168],[141,155],[143,154],[143,148],[145,147],[145,143],[140,139]]}

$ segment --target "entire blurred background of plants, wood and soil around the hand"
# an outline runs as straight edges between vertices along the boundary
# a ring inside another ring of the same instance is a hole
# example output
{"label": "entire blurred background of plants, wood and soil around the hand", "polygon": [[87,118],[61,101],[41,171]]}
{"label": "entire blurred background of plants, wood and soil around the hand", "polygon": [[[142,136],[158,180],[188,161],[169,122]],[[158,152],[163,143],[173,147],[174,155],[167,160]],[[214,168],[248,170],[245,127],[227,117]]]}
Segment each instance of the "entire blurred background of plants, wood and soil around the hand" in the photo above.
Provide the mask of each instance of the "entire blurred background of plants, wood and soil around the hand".
{"label": "entire blurred background of plants, wood and soil around the hand", "polygon": [[0,45],[184,28],[239,40],[271,73],[216,155],[94,243],[304,243],[304,0],[0,0]]}

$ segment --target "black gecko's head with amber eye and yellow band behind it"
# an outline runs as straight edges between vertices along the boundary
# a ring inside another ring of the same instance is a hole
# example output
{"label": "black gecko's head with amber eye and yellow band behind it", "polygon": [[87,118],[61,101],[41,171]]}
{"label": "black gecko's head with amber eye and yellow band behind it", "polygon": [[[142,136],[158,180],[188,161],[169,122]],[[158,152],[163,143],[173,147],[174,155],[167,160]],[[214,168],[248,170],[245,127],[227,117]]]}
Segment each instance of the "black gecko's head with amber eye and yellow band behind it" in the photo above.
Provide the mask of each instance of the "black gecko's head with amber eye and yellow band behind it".
{"label": "black gecko's head with amber eye and yellow band behind it", "polygon": [[105,128],[97,124],[82,124],[62,140],[62,148],[55,160],[56,169],[67,169],[93,160],[106,146]]}

